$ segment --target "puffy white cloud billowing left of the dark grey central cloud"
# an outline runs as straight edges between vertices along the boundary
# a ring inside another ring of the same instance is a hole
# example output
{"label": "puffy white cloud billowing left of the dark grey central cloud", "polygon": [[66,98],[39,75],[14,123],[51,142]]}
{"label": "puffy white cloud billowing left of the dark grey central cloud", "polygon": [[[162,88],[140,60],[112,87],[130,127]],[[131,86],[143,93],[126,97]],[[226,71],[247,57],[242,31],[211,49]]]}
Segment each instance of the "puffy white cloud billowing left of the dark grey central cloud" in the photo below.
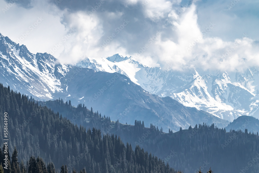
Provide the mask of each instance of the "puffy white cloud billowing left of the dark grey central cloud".
{"label": "puffy white cloud billowing left of the dark grey central cloud", "polygon": [[64,16],[67,28],[75,29],[75,33],[64,42],[65,49],[59,57],[64,63],[75,63],[80,57],[91,56],[98,52],[98,40],[103,30],[99,19],[84,12],[68,13]]}

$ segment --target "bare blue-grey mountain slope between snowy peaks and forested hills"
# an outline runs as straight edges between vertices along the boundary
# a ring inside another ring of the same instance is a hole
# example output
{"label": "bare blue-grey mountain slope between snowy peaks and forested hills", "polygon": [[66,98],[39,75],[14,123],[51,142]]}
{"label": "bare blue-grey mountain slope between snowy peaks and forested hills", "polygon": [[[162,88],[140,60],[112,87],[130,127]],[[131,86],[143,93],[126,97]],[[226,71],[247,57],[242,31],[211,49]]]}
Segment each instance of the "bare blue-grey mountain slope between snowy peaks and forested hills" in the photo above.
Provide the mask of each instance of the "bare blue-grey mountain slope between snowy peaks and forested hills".
{"label": "bare blue-grey mountain slope between snowy peaks and forested hills", "polygon": [[[76,76],[76,77],[75,77]],[[199,123],[214,123],[225,127],[229,122],[193,107],[185,107],[170,97],[158,97],[136,85],[128,77],[119,73],[95,72],[89,68],[74,66],[61,79],[67,92],[58,96],[92,106],[111,120],[133,124],[134,120],[143,120],[146,126],[150,123],[158,127],[178,131],[182,126]],[[225,126],[224,126],[225,125]]]}

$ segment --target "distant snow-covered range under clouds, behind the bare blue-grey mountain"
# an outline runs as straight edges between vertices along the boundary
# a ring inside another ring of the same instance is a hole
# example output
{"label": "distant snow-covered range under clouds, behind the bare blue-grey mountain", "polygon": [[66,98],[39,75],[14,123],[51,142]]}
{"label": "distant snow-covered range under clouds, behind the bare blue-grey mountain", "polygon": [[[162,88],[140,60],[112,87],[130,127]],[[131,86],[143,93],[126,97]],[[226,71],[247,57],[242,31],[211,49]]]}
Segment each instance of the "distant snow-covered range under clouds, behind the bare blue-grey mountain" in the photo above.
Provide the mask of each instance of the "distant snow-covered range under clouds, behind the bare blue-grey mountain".
{"label": "distant snow-covered range under clouds, behind the bare blue-grey mountain", "polygon": [[228,121],[241,115],[259,117],[259,67],[244,72],[163,71],[118,54],[106,59],[86,58],[77,66],[124,74],[152,94],[170,96],[184,106],[196,107]]}

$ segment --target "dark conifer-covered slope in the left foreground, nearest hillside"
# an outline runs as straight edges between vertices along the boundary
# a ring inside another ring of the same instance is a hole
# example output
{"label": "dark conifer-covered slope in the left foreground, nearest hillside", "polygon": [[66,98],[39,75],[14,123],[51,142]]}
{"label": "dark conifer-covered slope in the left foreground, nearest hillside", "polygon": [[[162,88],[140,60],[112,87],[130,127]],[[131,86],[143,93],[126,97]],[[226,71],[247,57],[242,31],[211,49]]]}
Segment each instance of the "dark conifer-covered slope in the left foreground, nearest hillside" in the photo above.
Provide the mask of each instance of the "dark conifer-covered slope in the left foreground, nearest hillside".
{"label": "dark conifer-covered slope in the left foreground, nearest hillside", "polygon": [[[9,153],[13,153],[16,146],[20,163],[22,160],[27,163],[31,156],[40,156],[58,167],[68,165],[68,171],[85,168],[86,172],[98,173],[176,172],[139,146],[132,149],[116,135],[102,136],[99,129],[78,127],[59,113],[1,84],[1,122],[4,112],[8,113]],[[3,136],[3,123],[0,129]]]}

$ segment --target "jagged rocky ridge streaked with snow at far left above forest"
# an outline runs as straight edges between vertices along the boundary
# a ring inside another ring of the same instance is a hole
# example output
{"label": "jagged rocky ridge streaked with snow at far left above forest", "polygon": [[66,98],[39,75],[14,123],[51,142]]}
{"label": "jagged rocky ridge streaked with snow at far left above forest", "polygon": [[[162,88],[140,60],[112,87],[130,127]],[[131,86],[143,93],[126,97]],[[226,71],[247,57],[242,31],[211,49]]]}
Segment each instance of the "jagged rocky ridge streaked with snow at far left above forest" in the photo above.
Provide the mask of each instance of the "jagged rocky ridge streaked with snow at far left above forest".
{"label": "jagged rocky ridge streaked with snow at far left above forest", "polygon": [[[47,54],[32,54],[26,46],[12,42],[0,35],[0,79],[25,94],[37,98],[51,99],[52,93],[62,92],[61,83],[55,76],[55,70],[68,71],[69,66],[56,66],[56,59]],[[64,75],[64,74],[61,74]],[[3,79],[4,78],[4,79]],[[5,84],[4,84],[5,85]],[[19,89],[21,88],[21,89]]]}

